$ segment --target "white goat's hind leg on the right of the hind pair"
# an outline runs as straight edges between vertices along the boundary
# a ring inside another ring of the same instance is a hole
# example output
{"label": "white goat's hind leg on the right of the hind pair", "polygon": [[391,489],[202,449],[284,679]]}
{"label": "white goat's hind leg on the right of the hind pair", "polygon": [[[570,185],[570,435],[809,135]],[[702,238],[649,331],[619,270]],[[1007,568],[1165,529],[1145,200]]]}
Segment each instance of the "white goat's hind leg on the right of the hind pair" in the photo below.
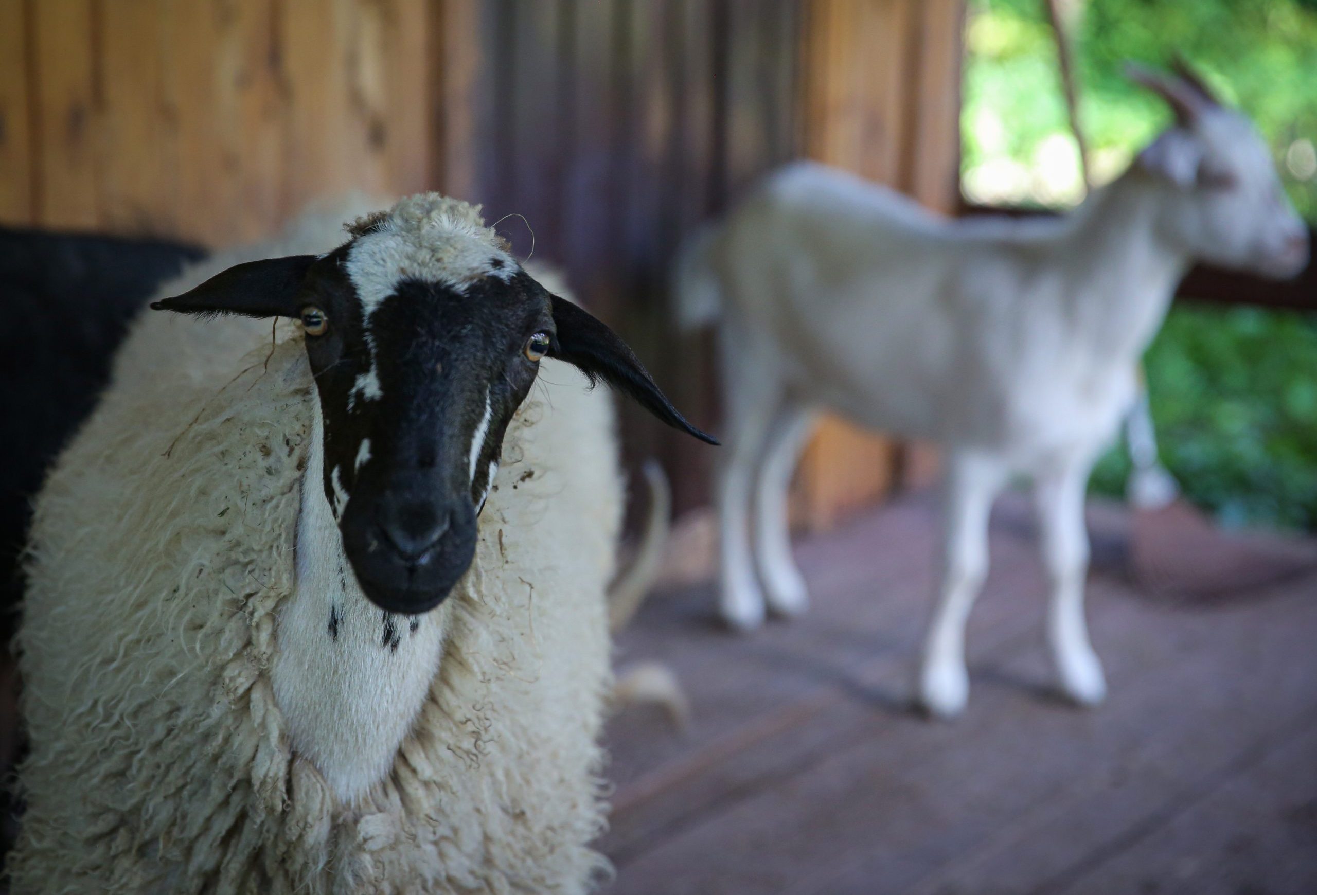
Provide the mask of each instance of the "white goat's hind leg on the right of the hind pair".
{"label": "white goat's hind leg on the right of the hind pair", "polygon": [[789,404],[777,413],[768,430],[755,490],[755,558],[759,562],[759,576],[768,608],[782,615],[799,615],[809,605],[805,579],[792,555],[788,491],[813,421],[814,415],[795,404]]}

